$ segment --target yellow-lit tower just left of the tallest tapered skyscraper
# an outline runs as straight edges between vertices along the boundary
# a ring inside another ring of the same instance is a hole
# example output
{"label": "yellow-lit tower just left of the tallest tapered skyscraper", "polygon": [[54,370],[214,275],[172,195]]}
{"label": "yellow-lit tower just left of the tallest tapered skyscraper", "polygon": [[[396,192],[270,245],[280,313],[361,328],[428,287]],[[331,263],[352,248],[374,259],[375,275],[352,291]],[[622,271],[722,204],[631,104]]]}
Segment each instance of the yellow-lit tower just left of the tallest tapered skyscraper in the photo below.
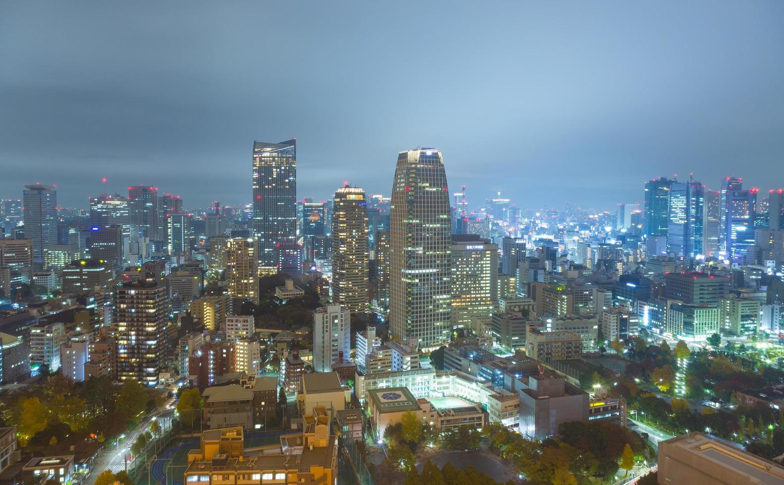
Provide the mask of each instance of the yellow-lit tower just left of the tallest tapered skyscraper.
{"label": "yellow-lit tower just left of the tallest tapered skyscraper", "polygon": [[332,206],[332,302],[368,310],[368,216],[365,191],[344,186]]}

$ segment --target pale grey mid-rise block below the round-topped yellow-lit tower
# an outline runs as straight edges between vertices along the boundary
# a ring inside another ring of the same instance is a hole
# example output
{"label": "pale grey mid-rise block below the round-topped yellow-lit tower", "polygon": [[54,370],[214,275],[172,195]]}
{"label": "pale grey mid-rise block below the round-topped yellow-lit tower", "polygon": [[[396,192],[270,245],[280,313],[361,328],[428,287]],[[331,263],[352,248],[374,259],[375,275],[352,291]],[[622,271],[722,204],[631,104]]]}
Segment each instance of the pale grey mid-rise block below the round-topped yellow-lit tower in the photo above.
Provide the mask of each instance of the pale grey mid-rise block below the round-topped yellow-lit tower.
{"label": "pale grey mid-rise block below the round-topped yellow-lit tower", "polygon": [[351,312],[329,305],[313,312],[313,368],[331,372],[332,364],[348,360],[351,351]]}

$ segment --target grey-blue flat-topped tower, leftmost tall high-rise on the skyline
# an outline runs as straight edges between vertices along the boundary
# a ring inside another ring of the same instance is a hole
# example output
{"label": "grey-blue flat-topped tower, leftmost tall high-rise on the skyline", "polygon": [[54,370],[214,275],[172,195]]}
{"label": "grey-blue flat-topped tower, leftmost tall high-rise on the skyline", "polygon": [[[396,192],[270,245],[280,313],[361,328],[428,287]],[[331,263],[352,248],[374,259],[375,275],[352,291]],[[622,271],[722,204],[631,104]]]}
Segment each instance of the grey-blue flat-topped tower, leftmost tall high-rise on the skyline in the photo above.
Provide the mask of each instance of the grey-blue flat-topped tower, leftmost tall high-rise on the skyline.
{"label": "grey-blue flat-topped tower, leftmost tall high-rise on the skyline", "polygon": [[33,241],[33,261],[43,263],[44,249],[57,244],[57,191],[38,183],[24,186],[24,237]]}

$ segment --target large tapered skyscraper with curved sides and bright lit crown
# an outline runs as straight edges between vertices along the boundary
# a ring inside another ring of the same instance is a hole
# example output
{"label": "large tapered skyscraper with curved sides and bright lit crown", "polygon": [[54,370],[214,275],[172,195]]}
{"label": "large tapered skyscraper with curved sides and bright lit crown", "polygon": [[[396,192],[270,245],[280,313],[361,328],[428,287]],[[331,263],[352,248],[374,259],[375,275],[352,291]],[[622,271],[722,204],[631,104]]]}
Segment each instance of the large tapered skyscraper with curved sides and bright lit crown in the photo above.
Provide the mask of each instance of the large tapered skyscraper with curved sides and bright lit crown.
{"label": "large tapered skyscraper with curved sides and bright lit crown", "polygon": [[390,329],[420,349],[452,331],[452,219],[441,152],[397,156],[390,208]]}

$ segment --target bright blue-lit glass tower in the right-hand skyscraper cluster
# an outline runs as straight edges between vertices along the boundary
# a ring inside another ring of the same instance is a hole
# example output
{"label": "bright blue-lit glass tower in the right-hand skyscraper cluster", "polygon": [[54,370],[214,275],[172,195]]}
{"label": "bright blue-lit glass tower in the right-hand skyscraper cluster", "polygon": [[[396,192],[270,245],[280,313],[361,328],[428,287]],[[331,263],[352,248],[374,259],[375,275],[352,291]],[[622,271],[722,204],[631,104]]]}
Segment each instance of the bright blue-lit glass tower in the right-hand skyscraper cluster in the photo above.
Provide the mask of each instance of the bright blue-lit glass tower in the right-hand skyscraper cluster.
{"label": "bright blue-lit glass tower in the right-hand skyscraper cluster", "polygon": [[704,190],[701,183],[693,181],[670,186],[667,252],[687,259],[702,254]]}

